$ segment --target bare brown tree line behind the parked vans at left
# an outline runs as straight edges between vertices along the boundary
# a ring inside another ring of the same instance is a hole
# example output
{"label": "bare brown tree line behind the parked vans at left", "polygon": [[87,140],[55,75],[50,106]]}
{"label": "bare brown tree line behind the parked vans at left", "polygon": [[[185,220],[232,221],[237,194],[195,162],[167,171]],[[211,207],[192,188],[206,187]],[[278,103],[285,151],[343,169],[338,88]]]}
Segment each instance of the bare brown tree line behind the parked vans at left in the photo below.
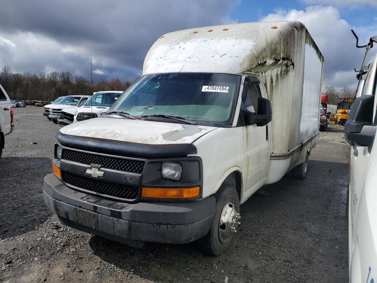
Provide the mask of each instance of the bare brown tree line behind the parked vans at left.
{"label": "bare brown tree line behind the parked vans at left", "polygon": [[70,72],[14,74],[8,66],[3,67],[0,72],[0,84],[14,100],[53,101],[60,96],[92,95],[95,91],[124,91],[135,80],[100,80],[93,83],[90,90],[90,80],[81,75],[72,75]]}

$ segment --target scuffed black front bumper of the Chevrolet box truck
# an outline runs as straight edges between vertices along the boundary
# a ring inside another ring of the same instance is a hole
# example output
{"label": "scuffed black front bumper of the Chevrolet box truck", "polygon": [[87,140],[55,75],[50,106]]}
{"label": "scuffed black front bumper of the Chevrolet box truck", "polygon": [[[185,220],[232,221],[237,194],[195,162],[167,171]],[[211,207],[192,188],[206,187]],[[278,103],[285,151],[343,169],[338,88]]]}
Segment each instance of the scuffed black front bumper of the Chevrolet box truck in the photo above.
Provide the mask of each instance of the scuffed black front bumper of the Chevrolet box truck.
{"label": "scuffed black front bumper of the Chevrolet box truck", "polygon": [[129,241],[189,243],[208,233],[216,200],[122,203],[68,188],[54,174],[44,177],[46,205],[72,228]]}

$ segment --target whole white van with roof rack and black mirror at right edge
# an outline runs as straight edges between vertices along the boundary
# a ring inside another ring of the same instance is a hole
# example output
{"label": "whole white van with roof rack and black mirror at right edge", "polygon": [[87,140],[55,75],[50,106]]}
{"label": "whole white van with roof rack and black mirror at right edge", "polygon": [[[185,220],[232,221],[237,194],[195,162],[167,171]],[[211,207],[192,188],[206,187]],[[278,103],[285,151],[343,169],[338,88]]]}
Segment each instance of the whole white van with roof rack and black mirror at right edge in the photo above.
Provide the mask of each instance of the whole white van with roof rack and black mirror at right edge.
{"label": "whole white van with roof rack and black mirror at right edge", "polygon": [[339,109],[347,110],[344,131],[345,139],[351,145],[346,206],[350,283],[369,283],[377,278],[376,72],[377,55],[374,56],[365,79],[360,82],[356,98],[352,101],[342,100],[342,105],[338,106]]}

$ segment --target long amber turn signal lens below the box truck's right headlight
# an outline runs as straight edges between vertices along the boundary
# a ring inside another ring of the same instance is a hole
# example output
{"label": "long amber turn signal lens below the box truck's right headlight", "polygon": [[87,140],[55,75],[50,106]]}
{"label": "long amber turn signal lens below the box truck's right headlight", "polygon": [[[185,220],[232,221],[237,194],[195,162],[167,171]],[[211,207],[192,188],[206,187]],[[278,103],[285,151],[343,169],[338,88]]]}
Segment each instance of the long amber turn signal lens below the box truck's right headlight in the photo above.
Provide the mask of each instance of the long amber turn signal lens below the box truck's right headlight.
{"label": "long amber turn signal lens below the box truck's right headlight", "polygon": [[193,188],[142,188],[141,197],[147,198],[193,198],[200,194],[200,187]]}

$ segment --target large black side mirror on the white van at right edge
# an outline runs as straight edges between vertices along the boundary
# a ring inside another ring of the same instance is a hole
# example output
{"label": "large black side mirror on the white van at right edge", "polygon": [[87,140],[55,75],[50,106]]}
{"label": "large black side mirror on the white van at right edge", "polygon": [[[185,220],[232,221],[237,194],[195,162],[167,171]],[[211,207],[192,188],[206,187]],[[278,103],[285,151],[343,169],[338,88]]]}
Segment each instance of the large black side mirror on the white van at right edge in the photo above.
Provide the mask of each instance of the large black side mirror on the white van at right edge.
{"label": "large black side mirror on the white van at right edge", "polygon": [[364,95],[354,100],[348,120],[344,125],[345,139],[351,146],[373,144],[377,125],[373,124],[374,95]]}

